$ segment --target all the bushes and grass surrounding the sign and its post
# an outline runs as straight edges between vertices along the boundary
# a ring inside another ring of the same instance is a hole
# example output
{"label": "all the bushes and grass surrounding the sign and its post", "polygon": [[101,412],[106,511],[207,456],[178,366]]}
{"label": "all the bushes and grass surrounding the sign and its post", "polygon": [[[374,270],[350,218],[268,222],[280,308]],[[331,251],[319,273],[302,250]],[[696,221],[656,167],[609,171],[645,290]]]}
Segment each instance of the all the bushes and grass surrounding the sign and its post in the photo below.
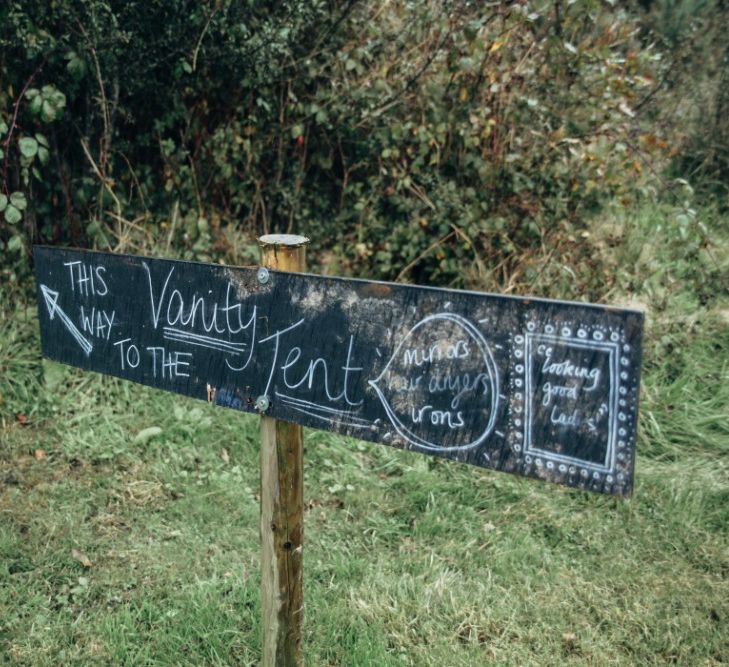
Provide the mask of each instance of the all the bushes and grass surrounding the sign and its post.
{"label": "all the bushes and grass surrounding the sign and its post", "polygon": [[310,664],[729,664],[723,0],[6,0],[0,663],[255,664],[257,425],[41,362],[33,243],[646,310],[635,497],[307,434]]}

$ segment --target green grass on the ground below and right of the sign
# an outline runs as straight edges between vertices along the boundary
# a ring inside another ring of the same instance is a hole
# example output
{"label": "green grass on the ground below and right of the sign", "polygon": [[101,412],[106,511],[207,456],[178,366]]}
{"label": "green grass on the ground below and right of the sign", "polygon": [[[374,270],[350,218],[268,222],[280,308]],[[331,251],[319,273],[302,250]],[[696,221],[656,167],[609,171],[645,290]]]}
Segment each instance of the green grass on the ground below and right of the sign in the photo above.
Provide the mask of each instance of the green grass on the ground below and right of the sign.
{"label": "green grass on the ground below and right of the sign", "polygon": [[[307,431],[307,664],[729,664],[729,253],[682,264],[671,220],[614,249],[648,308],[631,500]],[[13,308],[0,664],[257,664],[257,420],[41,365]]]}

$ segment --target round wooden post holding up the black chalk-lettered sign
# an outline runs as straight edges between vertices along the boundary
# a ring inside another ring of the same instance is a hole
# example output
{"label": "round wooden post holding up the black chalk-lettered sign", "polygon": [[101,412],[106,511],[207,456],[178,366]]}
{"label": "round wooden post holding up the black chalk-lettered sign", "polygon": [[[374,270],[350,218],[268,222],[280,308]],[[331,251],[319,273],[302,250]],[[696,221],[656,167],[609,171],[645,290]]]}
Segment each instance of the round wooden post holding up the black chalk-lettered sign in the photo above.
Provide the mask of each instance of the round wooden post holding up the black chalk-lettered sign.
{"label": "round wooden post holding up the black chalk-lettered sign", "polygon": [[[292,234],[261,236],[261,264],[280,271],[304,271],[308,242],[305,236]],[[264,406],[271,399],[261,398]],[[261,417],[263,667],[303,664],[303,451],[301,426]]]}

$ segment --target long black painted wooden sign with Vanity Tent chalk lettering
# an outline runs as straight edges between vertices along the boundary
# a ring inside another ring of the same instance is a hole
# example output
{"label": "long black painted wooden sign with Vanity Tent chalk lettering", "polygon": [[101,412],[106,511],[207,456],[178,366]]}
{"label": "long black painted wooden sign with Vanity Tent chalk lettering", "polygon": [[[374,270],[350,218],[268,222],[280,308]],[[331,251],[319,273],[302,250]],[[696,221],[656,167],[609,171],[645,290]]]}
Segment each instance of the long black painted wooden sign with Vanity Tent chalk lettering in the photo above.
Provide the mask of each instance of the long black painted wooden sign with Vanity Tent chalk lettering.
{"label": "long black painted wooden sign with Vanity Tent chalk lettering", "polygon": [[640,312],[45,247],[35,266],[50,359],[630,493]]}

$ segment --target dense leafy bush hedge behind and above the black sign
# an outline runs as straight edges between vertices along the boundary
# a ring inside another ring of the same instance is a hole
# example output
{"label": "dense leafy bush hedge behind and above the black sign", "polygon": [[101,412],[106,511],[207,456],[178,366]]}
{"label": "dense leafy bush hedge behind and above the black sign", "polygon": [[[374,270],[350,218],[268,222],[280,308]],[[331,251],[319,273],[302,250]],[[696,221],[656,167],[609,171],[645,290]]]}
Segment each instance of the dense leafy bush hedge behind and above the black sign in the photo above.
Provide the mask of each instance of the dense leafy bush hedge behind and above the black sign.
{"label": "dense leafy bush hedge behind and above the black sign", "polygon": [[592,0],[15,0],[3,186],[28,207],[4,252],[241,261],[297,231],[322,270],[517,289],[650,192],[668,142],[636,113],[660,67],[637,20]]}

